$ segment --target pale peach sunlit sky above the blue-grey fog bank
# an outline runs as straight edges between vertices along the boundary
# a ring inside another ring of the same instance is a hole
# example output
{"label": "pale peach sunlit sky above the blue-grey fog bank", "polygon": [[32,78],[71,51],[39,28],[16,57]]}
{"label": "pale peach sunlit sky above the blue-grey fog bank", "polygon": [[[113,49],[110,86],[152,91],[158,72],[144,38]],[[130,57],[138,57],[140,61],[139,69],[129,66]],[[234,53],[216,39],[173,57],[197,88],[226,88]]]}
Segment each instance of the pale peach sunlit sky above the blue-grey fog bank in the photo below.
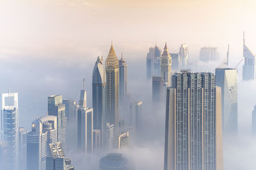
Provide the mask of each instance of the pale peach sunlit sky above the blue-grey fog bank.
{"label": "pale peach sunlit sky above the blue-grey fog bank", "polygon": [[0,54],[90,59],[106,56],[113,41],[118,55],[145,57],[149,46],[167,41],[171,52],[187,43],[191,58],[202,46],[217,46],[224,57],[230,43],[239,60],[243,31],[256,52],[255,6],[253,0],[0,0]]}

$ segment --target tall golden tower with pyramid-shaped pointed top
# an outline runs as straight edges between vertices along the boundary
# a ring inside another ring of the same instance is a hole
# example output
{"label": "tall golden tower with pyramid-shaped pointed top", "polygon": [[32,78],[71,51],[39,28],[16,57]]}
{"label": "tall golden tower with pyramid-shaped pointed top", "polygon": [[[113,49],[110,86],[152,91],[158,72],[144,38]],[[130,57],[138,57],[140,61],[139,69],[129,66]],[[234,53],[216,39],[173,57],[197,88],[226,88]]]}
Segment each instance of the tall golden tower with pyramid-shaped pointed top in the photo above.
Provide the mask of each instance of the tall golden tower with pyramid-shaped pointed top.
{"label": "tall golden tower with pyramid-shaped pointed top", "polygon": [[106,122],[115,125],[115,131],[118,131],[119,122],[119,66],[115,50],[111,44],[108,57],[105,61],[107,76],[107,108]]}

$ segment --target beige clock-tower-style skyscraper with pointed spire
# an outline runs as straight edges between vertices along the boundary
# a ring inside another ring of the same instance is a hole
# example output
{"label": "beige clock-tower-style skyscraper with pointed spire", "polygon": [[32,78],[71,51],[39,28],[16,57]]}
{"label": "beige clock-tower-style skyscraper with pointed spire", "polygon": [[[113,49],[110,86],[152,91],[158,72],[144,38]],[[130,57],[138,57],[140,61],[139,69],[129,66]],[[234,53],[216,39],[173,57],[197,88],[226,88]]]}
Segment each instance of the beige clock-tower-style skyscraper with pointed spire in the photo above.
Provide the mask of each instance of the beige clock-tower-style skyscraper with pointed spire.
{"label": "beige clock-tower-style skyscraper with pointed spire", "polygon": [[166,43],[161,56],[161,76],[163,77],[164,85],[170,87],[172,78],[172,57],[168,52]]}

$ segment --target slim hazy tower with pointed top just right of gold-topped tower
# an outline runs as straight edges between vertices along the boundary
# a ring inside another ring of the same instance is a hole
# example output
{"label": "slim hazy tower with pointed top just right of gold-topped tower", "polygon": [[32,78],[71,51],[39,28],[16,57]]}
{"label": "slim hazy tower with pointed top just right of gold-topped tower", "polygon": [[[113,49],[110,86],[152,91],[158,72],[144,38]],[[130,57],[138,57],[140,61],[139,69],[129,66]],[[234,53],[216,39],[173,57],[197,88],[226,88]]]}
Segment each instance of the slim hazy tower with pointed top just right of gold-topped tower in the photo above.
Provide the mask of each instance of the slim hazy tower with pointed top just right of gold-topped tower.
{"label": "slim hazy tower with pointed top just right of gold-topped tower", "polygon": [[127,64],[125,61],[122,54],[119,60],[119,101],[122,108],[127,100]]}

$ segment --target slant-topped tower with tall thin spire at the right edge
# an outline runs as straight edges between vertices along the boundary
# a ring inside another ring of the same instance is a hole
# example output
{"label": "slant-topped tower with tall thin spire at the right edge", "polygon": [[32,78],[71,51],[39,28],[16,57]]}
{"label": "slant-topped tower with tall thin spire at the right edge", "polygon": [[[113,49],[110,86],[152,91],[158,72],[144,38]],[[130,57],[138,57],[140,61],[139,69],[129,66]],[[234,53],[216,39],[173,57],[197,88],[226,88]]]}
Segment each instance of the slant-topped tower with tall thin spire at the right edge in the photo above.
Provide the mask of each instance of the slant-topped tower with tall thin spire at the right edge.
{"label": "slant-topped tower with tall thin spire at the right edge", "polygon": [[243,36],[243,80],[255,80],[256,78],[256,58],[251,50],[245,45],[245,38]]}

